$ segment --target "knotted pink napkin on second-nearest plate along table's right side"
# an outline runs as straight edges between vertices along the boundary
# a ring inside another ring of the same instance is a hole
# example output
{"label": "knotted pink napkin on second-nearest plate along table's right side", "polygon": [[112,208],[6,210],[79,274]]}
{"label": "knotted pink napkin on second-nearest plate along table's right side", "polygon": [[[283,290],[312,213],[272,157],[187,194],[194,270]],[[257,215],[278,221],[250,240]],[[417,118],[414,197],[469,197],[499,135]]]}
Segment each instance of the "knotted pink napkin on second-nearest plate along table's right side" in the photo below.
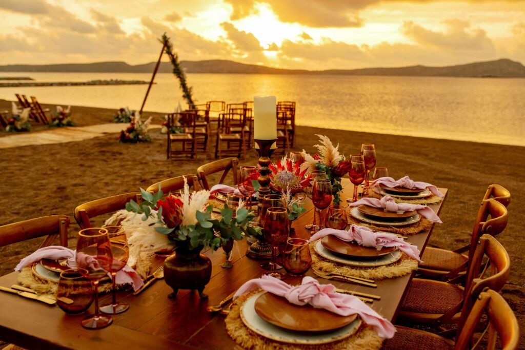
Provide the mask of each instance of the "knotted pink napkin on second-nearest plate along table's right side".
{"label": "knotted pink napkin on second-nearest plate along table's right side", "polygon": [[351,225],[348,231],[335,230],[332,228],[323,228],[317,231],[315,235],[310,237],[310,242],[323,238],[324,236],[332,235],[345,242],[356,242],[364,247],[397,247],[399,250],[407,254],[407,256],[419,262],[419,249],[416,246],[408,244],[401,237],[387,234],[386,232],[374,232],[368,227]]}

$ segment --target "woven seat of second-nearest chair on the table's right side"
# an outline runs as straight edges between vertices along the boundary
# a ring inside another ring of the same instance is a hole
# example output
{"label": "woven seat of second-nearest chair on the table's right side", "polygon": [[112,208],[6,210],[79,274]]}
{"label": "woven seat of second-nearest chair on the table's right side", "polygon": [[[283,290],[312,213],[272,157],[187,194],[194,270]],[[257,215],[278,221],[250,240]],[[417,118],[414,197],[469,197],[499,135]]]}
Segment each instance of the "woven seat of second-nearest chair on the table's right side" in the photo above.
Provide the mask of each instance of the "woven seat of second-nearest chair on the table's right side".
{"label": "woven seat of second-nearest chair on the table's right side", "polygon": [[444,314],[463,301],[463,288],[456,284],[415,278],[408,285],[401,311]]}

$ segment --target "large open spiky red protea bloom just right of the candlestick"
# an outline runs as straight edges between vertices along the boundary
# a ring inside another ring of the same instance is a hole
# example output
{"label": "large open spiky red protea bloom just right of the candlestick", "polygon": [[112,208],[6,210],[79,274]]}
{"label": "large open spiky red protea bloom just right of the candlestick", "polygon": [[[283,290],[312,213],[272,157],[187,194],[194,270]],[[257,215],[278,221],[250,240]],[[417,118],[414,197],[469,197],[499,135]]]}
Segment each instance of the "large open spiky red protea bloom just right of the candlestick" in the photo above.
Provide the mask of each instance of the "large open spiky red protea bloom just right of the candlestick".
{"label": "large open spiky red protea bloom just right of the candlestick", "polygon": [[274,192],[295,194],[301,192],[310,184],[310,176],[306,176],[307,168],[301,169],[299,164],[284,156],[277,163],[270,164],[270,188]]}

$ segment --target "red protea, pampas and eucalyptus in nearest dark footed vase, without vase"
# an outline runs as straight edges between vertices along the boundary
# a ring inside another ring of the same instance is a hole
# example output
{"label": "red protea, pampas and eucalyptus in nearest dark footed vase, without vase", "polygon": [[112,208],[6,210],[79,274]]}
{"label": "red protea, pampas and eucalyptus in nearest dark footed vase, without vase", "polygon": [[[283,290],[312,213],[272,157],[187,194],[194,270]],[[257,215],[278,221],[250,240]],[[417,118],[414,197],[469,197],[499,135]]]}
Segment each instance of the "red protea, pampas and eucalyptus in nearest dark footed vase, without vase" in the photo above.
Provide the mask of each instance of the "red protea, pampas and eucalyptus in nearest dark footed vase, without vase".
{"label": "red protea, pampas and eucalyptus in nearest dark footed vase, without vase", "polygon": [[207,206],[209,191],[200,190],[190,193],[186,179],[184,179],[181,197],[163,198],[161,189],[156,194],[151,194],[141,188],[141,194],[142,203],[130,200],[126,204],[126,209],[142,214],[143,221],[151,216],[156,217],[155,230],[167,235],[174,243],[175,250],[200,250],[202,247],[216,250],[231,239],[243,239],[243,234],[245,236],[260,234],[260,228],[250,225],[255,218],[254,213],[246,209],[242,201],[237,208],[228,208],[225,204],[220,210],[220,219],[212,219],[213,206]]}

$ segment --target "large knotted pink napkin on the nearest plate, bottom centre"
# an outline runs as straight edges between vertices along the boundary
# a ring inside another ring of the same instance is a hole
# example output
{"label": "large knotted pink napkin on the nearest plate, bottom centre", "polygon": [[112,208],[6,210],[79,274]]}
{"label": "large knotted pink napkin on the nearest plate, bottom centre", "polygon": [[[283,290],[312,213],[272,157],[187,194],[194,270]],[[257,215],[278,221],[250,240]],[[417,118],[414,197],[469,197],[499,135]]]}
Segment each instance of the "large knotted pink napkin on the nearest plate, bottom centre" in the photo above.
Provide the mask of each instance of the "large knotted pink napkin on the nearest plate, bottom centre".
{"label": "large knotted pink napkin on the nearest plate, bottom centre", "polygon": [[300,285],[292,286],[275,277],[263,275],[261,278],[249,280],[241,285],[233,298],[256,288],[282,296],[295,305],[310,304],[341,316],[358,314],[366,324],[374,327],[380,337],[392,338],[394,336],[395,327],[392,323],[381,317],[356,296],[335,292],[332,284],[320,284],[316,279],[306,276]]}

